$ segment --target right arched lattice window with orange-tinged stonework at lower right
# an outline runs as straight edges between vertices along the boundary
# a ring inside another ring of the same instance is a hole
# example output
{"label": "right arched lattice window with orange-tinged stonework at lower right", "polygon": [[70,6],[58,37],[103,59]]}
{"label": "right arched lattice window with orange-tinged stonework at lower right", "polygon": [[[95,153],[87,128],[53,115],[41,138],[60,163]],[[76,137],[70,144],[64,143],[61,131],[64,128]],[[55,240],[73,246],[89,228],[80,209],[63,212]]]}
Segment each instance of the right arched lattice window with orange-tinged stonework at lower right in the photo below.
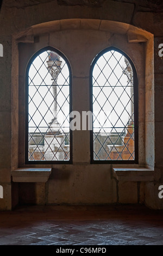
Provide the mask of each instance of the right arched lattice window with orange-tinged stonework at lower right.
{"label": "right arched lattice window with orange-tinged stonework at lower right", "polygon": [[131,59],[115,47],[100,52],[90,71],[92,163],[137,163],[138,89]]}

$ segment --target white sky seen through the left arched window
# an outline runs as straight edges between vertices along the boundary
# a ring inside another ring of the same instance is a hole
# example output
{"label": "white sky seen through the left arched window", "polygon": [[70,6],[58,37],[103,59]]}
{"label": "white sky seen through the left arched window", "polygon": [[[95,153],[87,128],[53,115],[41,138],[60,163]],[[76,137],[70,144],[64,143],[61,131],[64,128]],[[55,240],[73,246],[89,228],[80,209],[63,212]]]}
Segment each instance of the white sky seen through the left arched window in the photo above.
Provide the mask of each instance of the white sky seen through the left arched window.
{"label": "white sky seen through the left arched window", "polygon": [[[48,54],[47,52],[43,52],[40,54],[40,56],[37,56],[35,58],[33,64],[30,66],[30,69],[29,69],[29,95],[30,97],[33,97],[33,101],[35,103],[34,105],[34,103],[30,101],[30,98],[29,98],[29,114],[33,119],[33,120],[30,119],[29,126],[32,127],[32,126],[39,125],[41,131],[43,132],[47,130],[48,123],[54,117],[53,116],[54,97],[53,97],[53,88],[52,88],[53,80],[52,80],[51,74],[49,74],[47,69],[47,63],[46,63],[47,60],[48,60]],[[61,64],[62,71],[58,75],[58,80],[57,80],[57,83],[58,83],[57,101],[59,105],[62,106],[63,112],[60,111],[58,113],[57,119],[60,124],[63,124],[62,126],[66,127],[66,126],[69,126],[69,122],[65,120],[65,115],[67,117],[69,112],[69,104],[68,104],[69,87],[67,86],[69,84],[69,78],[68,78],[69,71],[68,71],[68,66],[65,63],[65,60],[62,59],[61,57],[60,57],[60,60],[62,61],[62,64]],[[42,61],[44,62],[44,64]],[[37,72],[37,70],[39,71]],[[62,87],[62,85],[64,85],[64,87]],[[42,98],[44,99],[44,101],[42,100]],[[38,111],[36,111],[36,107],[38,108]],[[48,108],[50,109],[50,111],[48,111]],[[58,106],[58,111],[59,109],[60,107]],[[39,111],[45,120],[42,120],[42,116],[39,113]],[[46,127],[46,128],[41,128],[41,127]],[[34,128],[29,129],[30,132],[34,130],[35,130]]]}

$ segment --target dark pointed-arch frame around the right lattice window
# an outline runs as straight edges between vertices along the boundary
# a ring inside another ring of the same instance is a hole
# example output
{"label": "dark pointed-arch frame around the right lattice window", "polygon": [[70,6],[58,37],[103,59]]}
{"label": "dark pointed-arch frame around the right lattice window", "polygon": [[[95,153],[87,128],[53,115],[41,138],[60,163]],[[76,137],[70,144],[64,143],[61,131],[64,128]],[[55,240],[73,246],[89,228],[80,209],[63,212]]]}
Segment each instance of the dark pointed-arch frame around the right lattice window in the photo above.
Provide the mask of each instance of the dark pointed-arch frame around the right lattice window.
{"label": "dark pointed-arch frame around the right lattice window", "polygon": [[97,60],[106,52],[109,51],[116,51],[121,53],[124,57],[126,57],[131,65],[131,68],[133,70],[133,87],[134,87],[134,151],[135,151],[135,159],[134,160],[93,160],[93,130],[90,131],[90,158],[91,163],[95,164],[104,164],[104,163],[112,163],[112,164],[137,164],[139,163],[139,121],[138,121],[138,111],[139,111],[139,87],[138,87],[138,80],[137,80],[137,72],[135,65],[133,61],[130,59],[130,57],[120,50],[117,47],[110,46],[105,49],[103,49],[101,52],[99,52],[96,57],[93,59],[91,63],[90,68],[90,109],[93,112],[93,105],[92,105],[92,72],[93,68],[96,65]]}

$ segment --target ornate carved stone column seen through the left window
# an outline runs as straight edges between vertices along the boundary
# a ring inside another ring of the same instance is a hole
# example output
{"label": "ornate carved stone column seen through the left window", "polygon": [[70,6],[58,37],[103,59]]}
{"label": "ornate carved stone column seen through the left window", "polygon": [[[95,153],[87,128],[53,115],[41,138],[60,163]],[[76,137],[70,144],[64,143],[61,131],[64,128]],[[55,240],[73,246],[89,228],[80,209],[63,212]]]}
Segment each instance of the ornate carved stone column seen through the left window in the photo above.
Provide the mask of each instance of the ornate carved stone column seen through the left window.
{"label": "ornate carved stone column seen through the left window", "polygon": [[[58,103],[57,103],[57,80],[61,71],[60,56],[57,53],[51,52],[48,57],[47,65],[48,70],[52,76],[52,90],[54,97],[53,105],[53,119],[49,122],[49,129],[45,135],[45,159],[47,161],[64,160],[65,153],[62,150],[64,148],[65,136],[62,134],[60,124],[57,120],[58,115]],[[62,146],[62,148],[60,147]]]}

